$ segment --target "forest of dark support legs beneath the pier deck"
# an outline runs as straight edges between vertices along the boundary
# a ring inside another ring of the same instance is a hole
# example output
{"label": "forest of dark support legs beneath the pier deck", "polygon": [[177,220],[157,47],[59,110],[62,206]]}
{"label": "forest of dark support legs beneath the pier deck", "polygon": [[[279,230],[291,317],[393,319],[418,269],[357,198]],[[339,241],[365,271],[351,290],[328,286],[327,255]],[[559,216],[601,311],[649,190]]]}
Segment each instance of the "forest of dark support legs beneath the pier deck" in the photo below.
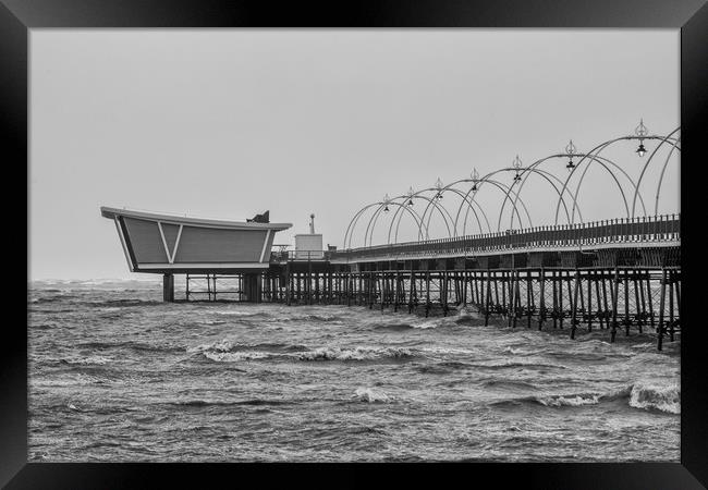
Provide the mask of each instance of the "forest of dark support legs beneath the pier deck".
{"label": "forest of dark support legs beneath the pier deck", "polygon": [[[188,273],[184,301],[338,304],[419,315],[473,307],[487,324],[680,335],[680,247],[544,252],[337,264],[272,261],[261,272]],[[164,301],[174,280],[164,275]]]}

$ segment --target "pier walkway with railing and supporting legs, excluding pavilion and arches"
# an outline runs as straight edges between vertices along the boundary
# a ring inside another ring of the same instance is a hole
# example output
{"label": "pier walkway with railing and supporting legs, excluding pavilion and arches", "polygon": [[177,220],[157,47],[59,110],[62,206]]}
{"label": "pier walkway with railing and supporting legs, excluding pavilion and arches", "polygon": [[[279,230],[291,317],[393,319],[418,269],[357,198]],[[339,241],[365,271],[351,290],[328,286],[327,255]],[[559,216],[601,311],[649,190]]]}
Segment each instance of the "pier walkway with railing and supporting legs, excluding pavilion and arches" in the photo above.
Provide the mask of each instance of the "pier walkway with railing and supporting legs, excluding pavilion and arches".
{"label": "pier walkway with railing and supporting legs, excluding pavilion and arches", "polygon": [[[261,273],[187,275],[186,299],[337,304],[447,316],[475,307],[511,328],[681,331],[680,217],[542,226],[515,233],[327,252],[272,254]],[[195,287],[205,281],[207,290]],[[234,285],[223,292],[217,282]],[[169,301],[169,299],[168,299]]]}

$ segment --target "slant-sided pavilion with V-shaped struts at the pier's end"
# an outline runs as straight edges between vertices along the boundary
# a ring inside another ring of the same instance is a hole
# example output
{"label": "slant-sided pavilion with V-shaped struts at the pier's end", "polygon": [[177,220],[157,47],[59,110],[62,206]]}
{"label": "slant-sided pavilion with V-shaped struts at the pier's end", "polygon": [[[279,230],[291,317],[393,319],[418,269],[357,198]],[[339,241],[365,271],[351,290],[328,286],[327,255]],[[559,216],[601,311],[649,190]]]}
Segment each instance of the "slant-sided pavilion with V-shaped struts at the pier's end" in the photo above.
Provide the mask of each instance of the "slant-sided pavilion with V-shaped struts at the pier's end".
{"label": "slant-sided pavilion with V-shaped struts at the pier's end", "polygon": [[163,298],[174,301],[175,273],[244,274],[245,294],[260,296],[260,277],[270,262],[276,232],[269,213],[225,221],[101,207],[115,223],[131,272],[163,274]]}

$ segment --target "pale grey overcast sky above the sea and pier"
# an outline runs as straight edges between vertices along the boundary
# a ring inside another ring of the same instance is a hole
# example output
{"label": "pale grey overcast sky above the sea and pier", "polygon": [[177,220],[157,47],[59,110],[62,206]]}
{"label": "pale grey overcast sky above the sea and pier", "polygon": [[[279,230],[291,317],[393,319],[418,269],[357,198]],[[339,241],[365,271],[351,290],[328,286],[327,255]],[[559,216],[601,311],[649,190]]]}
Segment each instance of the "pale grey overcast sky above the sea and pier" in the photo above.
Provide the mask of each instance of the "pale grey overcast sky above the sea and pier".
{"label": "pale grey overcast sky above the sea and pier", "polygon": [[[139,275],[100,206],[239,221],[268,209],[293,223],[277,244],[307,233],[315,213],[325,244],[341,248],[356,211],[386,194],[484,175],[516,155],[527,164],[571,138],[587,151],[640,118],[650,134],[680,124],[678,29],[32,29],[29,41],[30,280]],[[635,181],[636,145],[603,154]],[[679,211],[678,152],[659,157],[640,187],[649,215],[667,158],[658,212]],[[544,168],[564,179],[565,163]],[[521,197],[534,225],[554,222],[554,192],[529,177]],[[626,216],[621,196],[593,166],[583,220]],[[441,203],[453,216],[454,197]],[[502,199],[491,184],[479,191],[495,228]],[[400,230],[415,238],[412,221]]]}

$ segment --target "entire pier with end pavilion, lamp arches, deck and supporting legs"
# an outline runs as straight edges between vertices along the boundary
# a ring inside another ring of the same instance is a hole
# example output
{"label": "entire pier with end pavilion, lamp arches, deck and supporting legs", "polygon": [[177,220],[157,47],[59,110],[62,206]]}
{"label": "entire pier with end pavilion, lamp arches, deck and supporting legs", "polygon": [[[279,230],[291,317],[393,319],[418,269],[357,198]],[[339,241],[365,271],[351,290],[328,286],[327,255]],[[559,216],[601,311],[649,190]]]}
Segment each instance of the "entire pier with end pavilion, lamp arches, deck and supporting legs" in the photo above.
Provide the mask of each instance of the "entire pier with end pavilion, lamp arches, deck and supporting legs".
{"label": "entire pier with end pavilion, lamp arches, deck and supporting legs", "polygon": [[[438,179],[434,187],[387,195],[354,215],[340,250],[322,250],[314,215],[309,234],[295,235],[294,250],[272,250],[274,233],[291,224],[270,223],[268,211],[246,222],[117,208],[101,213],[115,222],[131,271],[163,274],[166,302],[337,304],[425,316],[473,307],[485,324],[497,317],[511,328],[565,330],[571,338],[579,329],[607,331],[610,342],[656,332],[661,350],[681,332],[681,218],[658,212],[667,167],[681,150],[679,131],[650,135],[640,121],[634,134],[587,152],[571,140],[565,151],[525,167],[517,156],[511,167],[484,176],[474,170],[469,179],[448,185]],[[634,177],[601,155],[622,142],[638,143]],[[560,176],[544,168],[559,161]],[[601,193],[617,189],[622,218],[583,220],[578,194],[590,167],[611,176],[612,187]],[[652,169],[659,175],[654,209],[640,192]],[[512,176],[510,183],[504,174]],[[522,198],[529,177],[549,185],[553,224],[534,224]],[[483,187],[500,193],[496,209],[476,200]],[[456,212],[442,206],[445,194],[460,200]],[[416,201],[423,201],[422,212],[414,210]],[[490,212],[498,213],[496,229]],[[434,216],[442,220],[447,237],[430,237]],[[382,217],[390,222],[387,243],[374,244]],[[399,243],[404,217],[414,223],[417,240]],[[468,223],[478,233],[471,233]],[[355,236],[362,246],[352,246]],[[185,275],[183,297],[174,294],[174,274]]]}

